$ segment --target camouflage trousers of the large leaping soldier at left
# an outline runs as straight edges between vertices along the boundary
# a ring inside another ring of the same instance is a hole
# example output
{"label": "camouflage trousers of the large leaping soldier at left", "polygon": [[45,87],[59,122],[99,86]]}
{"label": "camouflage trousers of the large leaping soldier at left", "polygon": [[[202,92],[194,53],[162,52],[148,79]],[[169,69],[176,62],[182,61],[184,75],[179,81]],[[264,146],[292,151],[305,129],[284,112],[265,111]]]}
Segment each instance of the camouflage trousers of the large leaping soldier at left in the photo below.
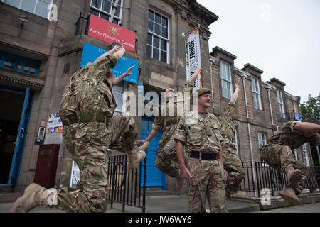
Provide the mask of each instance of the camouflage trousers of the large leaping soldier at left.
{"label": "camouflage trousers of the large leaping soldier at left", "polygon": [[63,127],[67,149],[80,169],[80,182],[75,189],[58,189],[58,209],[68,212],[105,212],[107,210],[108,148],[123,147],[130,153],[137,141],[134,119],[119,114],[110,123],[88,122]]}

